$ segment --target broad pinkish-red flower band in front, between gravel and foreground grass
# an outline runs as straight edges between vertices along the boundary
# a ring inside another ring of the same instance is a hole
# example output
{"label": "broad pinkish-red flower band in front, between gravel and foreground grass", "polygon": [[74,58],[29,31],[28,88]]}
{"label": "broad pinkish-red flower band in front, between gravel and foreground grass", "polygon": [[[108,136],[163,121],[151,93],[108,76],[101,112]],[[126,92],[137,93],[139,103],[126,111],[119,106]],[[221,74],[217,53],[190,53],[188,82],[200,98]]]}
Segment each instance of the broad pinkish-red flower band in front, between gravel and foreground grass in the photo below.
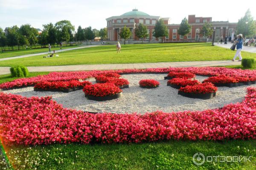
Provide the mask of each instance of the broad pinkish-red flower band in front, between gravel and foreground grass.
{"label": "broad pinkish-red flower band in front, between gravel and foreground grass", "polygon": [[0,93],[0,101],[0,137],[8,145],[256,139],[256,88],[219,109],[144,115],[84,113],[49,96]]}

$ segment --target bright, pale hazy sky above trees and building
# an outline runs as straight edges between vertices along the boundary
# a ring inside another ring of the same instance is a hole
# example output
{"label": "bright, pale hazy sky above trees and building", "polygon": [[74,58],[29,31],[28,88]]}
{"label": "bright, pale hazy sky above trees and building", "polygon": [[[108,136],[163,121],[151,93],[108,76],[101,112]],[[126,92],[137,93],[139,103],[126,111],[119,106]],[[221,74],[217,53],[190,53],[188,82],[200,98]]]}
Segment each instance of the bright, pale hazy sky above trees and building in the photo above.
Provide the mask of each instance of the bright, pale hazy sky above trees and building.
{"label": "bright, pale hazy sky above trees and building", "polygon": [[29,23],[42,29],[43,24],[70,20],[76,29],[100,29],[106,27],[106,18],[134,8],[149,15],[170,17],[175,24],[189,14],[237,22],[248,8],[256,20],[255,6],[256,0],[0,0],[0,27]]}

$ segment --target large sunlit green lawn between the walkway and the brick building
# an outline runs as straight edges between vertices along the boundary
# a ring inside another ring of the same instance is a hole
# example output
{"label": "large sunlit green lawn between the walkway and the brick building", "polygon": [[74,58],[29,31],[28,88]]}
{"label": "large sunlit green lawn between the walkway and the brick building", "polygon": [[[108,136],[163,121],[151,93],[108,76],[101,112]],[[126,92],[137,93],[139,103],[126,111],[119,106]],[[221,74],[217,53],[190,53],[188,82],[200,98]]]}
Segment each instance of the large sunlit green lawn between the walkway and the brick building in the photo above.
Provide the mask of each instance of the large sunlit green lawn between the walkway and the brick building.
{"label": "large sunlit green lawn between the walkway and the brick building", "polygon": [[[43,55],[12,59],[0,62],[0,66],[46,66],[81,64],[117,64],[177,61],[231,60],[235,51],[211,46],[211,43],[169,43],[122,45],[116,54],[115,45],[65,51],[59,57],[43,58]],[[256,54],[242,51],[242,56],[256,57]]]}

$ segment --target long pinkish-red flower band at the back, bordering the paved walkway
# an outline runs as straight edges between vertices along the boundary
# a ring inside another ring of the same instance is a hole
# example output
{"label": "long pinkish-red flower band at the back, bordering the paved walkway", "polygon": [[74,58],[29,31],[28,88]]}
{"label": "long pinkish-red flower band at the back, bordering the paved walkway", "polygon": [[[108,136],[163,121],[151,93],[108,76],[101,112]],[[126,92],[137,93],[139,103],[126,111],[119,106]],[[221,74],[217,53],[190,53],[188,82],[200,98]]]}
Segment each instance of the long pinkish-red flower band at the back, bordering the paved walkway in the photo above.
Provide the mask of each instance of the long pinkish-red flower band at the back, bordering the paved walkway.
{"label": "long pinkish-red flower band at the back, bordering the paved walkway", "polygon": [[[0,89],[13,89],[35,85],[43,81],[68,81],[72,79],[85,80],[90,77],[96,77],[99,74],[116,73],[116,74],[133,74],[133,73],[170,73],[170,72],[189,72],[202,76],[219,76],[229,75],[230,77],[249,77],[250,82],[256,81],[256,70],[241,70],[234,68],[222,67],[189,67],[189,68],[148,68],[148,69],[125,69],[110,71],[68,71],[52,72],[48,75],[15,79],[12,82],[0,84]],[[239,80],[240,82],[240,80]]]}

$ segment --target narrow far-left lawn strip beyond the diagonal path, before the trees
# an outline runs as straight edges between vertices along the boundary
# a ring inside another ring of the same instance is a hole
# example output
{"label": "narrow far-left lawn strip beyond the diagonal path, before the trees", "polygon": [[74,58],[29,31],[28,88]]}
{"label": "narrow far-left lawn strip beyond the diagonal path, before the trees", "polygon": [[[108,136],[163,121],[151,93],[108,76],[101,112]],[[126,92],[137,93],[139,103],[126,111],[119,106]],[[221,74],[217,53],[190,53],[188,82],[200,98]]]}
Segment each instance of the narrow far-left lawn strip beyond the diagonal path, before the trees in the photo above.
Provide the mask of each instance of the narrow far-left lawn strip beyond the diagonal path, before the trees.
{"label": "narrow far-left lawn strip beyond the diagonal path, before the trees", "polygon": [[[15,49],[14,51],[4,51],[3,53],[1,52],[1,49],[0,49],[0,58],[8,58],[8,57],[15,57],[15,56],[21,56],[21,55],[26,55],[26,54],[36,54],[36,53],[42,53],[42,52],[48,52],[48,46],[46,48],[41,48],[41,46],[36,46],[37,48],[29,48],[29,49],[20,49],[20,50],[17,50]],[[64,45],[62,46],[62,49],[65,49],[65,48],[75,48],[77,47],[76,45]],[[8,49],[8,48],[6,48]],[[60,50],[60,47],[57,45],[55,45],[55,47],[52,47],[51,48],[51,51],[53,50]]]}

